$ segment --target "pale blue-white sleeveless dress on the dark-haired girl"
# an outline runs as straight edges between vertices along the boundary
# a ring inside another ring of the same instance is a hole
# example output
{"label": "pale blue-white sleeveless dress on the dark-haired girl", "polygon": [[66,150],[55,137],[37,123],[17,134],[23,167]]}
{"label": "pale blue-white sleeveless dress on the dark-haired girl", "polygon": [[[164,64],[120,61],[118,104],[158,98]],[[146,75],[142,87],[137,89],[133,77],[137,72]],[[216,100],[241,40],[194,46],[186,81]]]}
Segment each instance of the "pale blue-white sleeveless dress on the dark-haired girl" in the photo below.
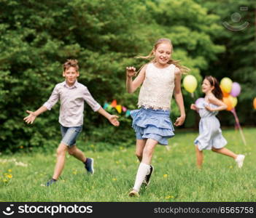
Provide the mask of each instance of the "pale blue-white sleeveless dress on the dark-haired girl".
{"label": "pale blue-white sleeveless dress on the dark-haired girl", "polygon": [[194,144],[198,145],[199,150],[212,150],[212,148],[223,148],[227,141],[222,136],[220,121],[217,119],[217,111],[206,110],[205,105],[211,108],[217,108],[216,105],[207,103],[205,100],[198,103],[199,115],[199,136],[195,139]]}

